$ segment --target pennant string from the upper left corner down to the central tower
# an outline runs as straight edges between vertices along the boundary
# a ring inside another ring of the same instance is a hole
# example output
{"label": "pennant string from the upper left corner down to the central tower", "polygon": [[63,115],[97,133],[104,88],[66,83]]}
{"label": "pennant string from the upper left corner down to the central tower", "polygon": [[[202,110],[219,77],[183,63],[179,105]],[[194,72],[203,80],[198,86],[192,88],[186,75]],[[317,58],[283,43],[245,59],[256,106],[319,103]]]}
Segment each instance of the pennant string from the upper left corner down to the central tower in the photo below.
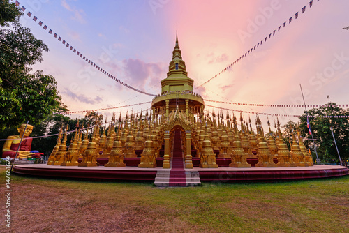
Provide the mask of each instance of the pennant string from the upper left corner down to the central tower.
{"label": "pennant string from the upper left corner down to the central tower", "polygon": [[[13,0],[11,0],[13,1]],[[20,2],[19,1],[15,1],[15,5],[20,7]],[[24,6],[20,7],[20,9],[22,10],[22,12],[26,11],[26,8]],[[31,15],[33,15],[29,10],[27,12],[27,16],[31,17]],[[35,15],[33,16],[33,20],[35,22],[38,21],[38,25],[41,27],[43,26],[44,30],[47,30],[48,26],[46,24],[43,23],[43,21],[38,20],[38,17],[36,17]],[[57,33],[54,33],[54,31],[52,29],[48,30],[48,33],[52,34],[53,33],[53,37],[57,38],[58,41],[61,41],[61,43],[63,45],[66,45],[66,47],[71,50],[73,53],[77,54],[77,56],[79,56],[81,59],[83,59],[84,61],[86,61],[87,63],[89,63],[89,65],[93,66],[94,68],[96,68],[97,70],[101,71],[101,73],[103,73],[104,75],[106,75],[107,77],[110,77],[112,80],[118,82],[119,84],[123,85],[124,87],[127,87],[128,89],[131,89],[133,91],[137,91],[139,93],[143,93],[144,95],[148,95],[148,96],[156,96],[155,94],[152,93],[147,93],[146,91],[141,91],[139,89],[136,89],[135,87],[132,87],[131,85],[126,84],[125,82],[122,82],[121,80],[119,80],[117,77],[115,77],[114,75],[112,75],[111,73],[108,73],[107,70],[104,70],[101,66],[98,66],[96,63],[94,63],[94,61],[91,61],[88,57],[84,56],[82,54],[82,52],[78,51],[75,47],[73,47],[73,45],[69,45],[68,42],[66,42],[66,40],[64,40],[63,38],[61,38],[61,36],[59,36]]]}

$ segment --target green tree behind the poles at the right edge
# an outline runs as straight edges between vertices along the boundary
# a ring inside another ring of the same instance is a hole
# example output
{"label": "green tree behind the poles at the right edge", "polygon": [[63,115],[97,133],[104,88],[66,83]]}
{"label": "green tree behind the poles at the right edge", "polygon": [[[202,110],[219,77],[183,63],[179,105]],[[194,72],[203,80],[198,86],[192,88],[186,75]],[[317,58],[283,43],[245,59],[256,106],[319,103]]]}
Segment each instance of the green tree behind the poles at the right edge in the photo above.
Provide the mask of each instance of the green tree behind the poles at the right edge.
{"label": "green tree behind the poles at the right edge", "polygon": [[[306,113],[306,112],[304,112]],[[328,103],[327,106],[313,108],[308,111],[309,123],[315,140],[318,156],[322,163],[335,160],[339,163],[339,157],[334,145],[334,140],[330,127],[333,129],[336,144],[341,155],[341,160],[346,163],[349,158],[349,120],[348,118],[339,118],[336,116],[348,116],[349,111],[341,107],[336,107],[336,103]],[[319,117],[327,116],[327,117]],[[313,149],[314,144],[309,134],[306,117],[300,117],[301,134],[306,137],[304,144]]]}

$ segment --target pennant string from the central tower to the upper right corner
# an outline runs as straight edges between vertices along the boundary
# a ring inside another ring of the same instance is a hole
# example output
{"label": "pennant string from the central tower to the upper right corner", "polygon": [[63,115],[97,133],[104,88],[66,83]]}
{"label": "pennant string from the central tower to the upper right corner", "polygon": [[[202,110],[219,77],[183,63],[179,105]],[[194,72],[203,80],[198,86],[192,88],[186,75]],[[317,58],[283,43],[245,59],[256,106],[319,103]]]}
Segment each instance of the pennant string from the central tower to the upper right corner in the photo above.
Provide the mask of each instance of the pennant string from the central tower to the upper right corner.
{"label": "pennant string from the central tower to the upper right corner", "polygon": [[[317,0],[320,1],[320,0]],[[313,0],[309,1],[309,8],[311,8],[311,6],[313,6]],[[306,11],[306,6],[304,6],[302,8],[302,14]],[[295,13],[295,19],[298,18],[299,13]],[[236,59],[233,63],[230,63],[230,65],[228,65],[227,67],[225,67],[223,70],[221,70],[219,73],[217,73],[216,75],[214,75],[214,77],[211,77],[209,80],[207,80],[206,82],[200,84],[198,87],[195,87],[195,89],[198,89],[202,86],[204,86],[205,84],[207,84],[208,82],[211,82],[211,80],[213,80],[214,78],[218,77],[219,75],[225,73],[225,71],[232,69],[232,66],[234,66],[236,63],[238,63],[239,61],[241,61],[242,59],[244,59],[244,57],[247,57],[247,55],[251,54],[254,50],[258,49],[258,47],[260,47],[260,45],[262,45],[263,43],[266,43],[268,39],[272,38],[272,36],[275,36],[276,32],[279,32],[281,30],[281,28],[284,28],[288,22],[288,24],[290,24],[292,22],[292,18],[293,15],[286,20],[285,22],[283,22],[283,24],[281,24],[277,29],[275,29],[274,31],[272,31],[272,33],[269,33],[269,36],[266,36],[264,39],[260,40],[259,43],[257,43],[257,45],[254,45],[253,47],[251,47],[250,50],[246,51],[244,54],[242,54],[242,56],[240,56],[238,59]]]}

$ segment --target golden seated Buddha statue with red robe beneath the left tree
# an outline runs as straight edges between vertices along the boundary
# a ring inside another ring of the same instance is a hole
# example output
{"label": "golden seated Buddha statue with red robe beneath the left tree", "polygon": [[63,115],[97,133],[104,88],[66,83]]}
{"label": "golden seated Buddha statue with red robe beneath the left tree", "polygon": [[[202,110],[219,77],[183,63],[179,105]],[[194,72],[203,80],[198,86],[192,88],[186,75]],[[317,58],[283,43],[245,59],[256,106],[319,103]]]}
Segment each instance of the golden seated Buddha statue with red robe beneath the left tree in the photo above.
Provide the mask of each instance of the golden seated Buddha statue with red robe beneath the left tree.
{"label": "golden seated Buddha statue with red robe beneath the left tree", "polygon": [[[23,123],[20,128],[17,128],[18,133],[20,135],[11,135],[8,136],[5,141],[5,144],[3,144],[2,149],[2,157],[6,158],[10,156],[10,158],[15,158],[16,151],[18,149],[18,146],[20,146],[20,149],[18,150],[17,158],[40,158],[41,153],[35,153],[31,152],[31,141],[33,140],[29,135],[33,131],[33,126],[28,125],[25,129],[26,124]],[[25,129],[25,131],[24,131]],[[20,140],[23,135],[23,140],[20,145]]]}

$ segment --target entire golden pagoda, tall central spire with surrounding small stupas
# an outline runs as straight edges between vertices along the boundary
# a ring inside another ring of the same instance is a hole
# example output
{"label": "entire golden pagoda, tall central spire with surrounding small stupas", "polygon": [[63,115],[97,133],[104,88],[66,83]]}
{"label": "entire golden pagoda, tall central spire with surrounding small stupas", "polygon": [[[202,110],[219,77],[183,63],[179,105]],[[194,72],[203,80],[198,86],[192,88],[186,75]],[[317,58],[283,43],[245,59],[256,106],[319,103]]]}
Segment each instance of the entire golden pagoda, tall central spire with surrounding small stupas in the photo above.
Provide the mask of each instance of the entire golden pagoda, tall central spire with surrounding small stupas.
{"label": "entire golden pagoda, tall central spire with surrounding small stupas", "polygon": [[[61,166],[97,166],[98,158],[107,158],[105,167],[124,167],[124,158],[137,158],[138,167],[156,167],[156,159],[163,157],[163,168],[171,167],[171,152],[174,132],[181,132],[184,165],[193,168],[193,157],[200,158],[200,167],[216,168],[216,158],[231,158],[230,167],[251,167],[248,160],[257,159],[258,167],[296,167],[311,166],[313,160],[307,153],[302,137],[292,132],[292,146],[283,141],[279,120],[275,125],[276,133],[265,137],[262,123],[256,117],[256,133],[253,132],[251,119],[244,120],[240,114],[240,128],[233,114],[223,120],[223,113],[206,111],[201,96],[193,93],[193,80],[188,77],[185,62],[179,50],[178,37],[172,52],[167,77],[161,80],[161,95],[151,103],[151,114],[145,116],[131,114],[121,120],[112,117],[106,128],[94,126],[91,136],[88,133],[82,140],[82,130],[75,130],[73,142],[67,151],[66,133],[59,133],[48,165]],[[117,128],[117,130],[116,130]],[[68,128],[66,129],[66,131]],[[106,133],[107,132],[107,133]],[[61,138],[63,137],[63,139]],[[274,159],[277,163],[274,163]],[[79,163],[80,159],[80,163]]]}

